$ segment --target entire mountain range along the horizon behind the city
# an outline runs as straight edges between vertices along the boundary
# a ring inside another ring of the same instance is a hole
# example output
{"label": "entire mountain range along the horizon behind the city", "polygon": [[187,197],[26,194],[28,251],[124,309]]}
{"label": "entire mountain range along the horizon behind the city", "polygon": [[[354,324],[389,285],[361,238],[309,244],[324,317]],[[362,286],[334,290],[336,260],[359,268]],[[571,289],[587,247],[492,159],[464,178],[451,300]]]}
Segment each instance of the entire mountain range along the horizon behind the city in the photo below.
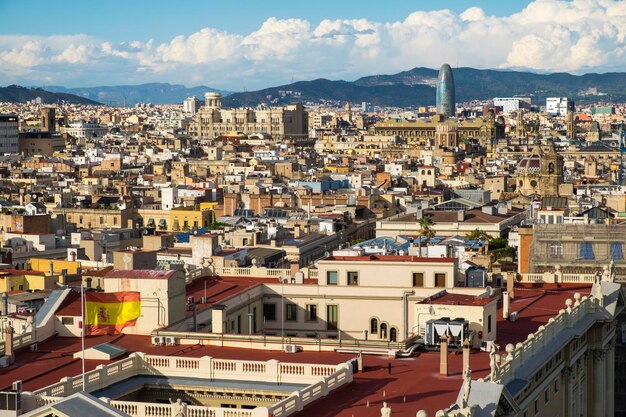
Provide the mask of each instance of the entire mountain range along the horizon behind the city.
{"label": "entire mountain range along the horizon behind the city", "polygon": [[[546,97],[569,97],[576,102],[625,102],[626,73],[571,75],[536,74],[522,71],[454,68],[456,101],[487,100],[494,97],[526,96],[543,104]],[[44,102],[65,100],[121,106],[136,103],[181,103],[190,96],[204,98],[208,91],[220,91],[225,107],[254,107],[261,104],[286,105],[295,102],[368,102],[377,106],[415,107],[435,104],[438,71],[413,68],[397,74],[371,75],[355,81],[316,79],[298,81],[257,91],[230,93],[211,87],[149,83],[104,87],[41,89],[19,86],[0,88],[0,101],[26,101],[37,96]]]}

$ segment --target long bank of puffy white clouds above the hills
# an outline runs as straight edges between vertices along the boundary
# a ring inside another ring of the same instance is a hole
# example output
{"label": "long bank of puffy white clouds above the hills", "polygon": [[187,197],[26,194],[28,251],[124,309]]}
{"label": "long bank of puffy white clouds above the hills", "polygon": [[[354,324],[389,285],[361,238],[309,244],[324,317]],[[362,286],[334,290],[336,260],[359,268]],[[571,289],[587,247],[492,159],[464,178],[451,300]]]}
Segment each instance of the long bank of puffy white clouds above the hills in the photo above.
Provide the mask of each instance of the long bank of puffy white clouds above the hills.
{"label": "long bank of puffy white clouds above the hills", "polygon": [[96,85],[169,81],[243,89],[354,79],[416,66],[626,71],[626,2],[535,0],[511,16],[479,7],[416,11],[396,22],[269,18],[248,34],[205,28],[168,42],[85,35],[0,36],[0,78]]}

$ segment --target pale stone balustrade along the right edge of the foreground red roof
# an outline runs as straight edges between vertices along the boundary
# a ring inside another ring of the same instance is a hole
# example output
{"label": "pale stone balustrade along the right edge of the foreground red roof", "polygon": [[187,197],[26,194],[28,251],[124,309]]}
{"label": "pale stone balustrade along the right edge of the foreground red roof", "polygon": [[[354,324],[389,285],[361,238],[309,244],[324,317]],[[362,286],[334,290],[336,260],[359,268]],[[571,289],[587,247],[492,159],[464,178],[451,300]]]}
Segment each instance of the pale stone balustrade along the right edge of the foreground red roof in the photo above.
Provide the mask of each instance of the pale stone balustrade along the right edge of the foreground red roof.
{"label": "pale stone balustrade along the right edge of the foreground red roof", "polygon": [[[581,298],[580,294],[575,294],[574,298],[575,301],[567,300],[565,309],[560,310],[555,317],[551,317],[548,323],[540,326],[535,333],[529,334],[525,341],[515,346],[512,344],[506,346],[506,355],[495,370],[495,378],[493,378],[495,381],[507,384],[515,379],[516,372],[524,366],[527,359],[540,354],[539,351],[553,341],[559,332],[573,327],[579,320],[598,308],[599,304],[594,297]],[[489,375],[484,380],[492,381],[492,376]]]}

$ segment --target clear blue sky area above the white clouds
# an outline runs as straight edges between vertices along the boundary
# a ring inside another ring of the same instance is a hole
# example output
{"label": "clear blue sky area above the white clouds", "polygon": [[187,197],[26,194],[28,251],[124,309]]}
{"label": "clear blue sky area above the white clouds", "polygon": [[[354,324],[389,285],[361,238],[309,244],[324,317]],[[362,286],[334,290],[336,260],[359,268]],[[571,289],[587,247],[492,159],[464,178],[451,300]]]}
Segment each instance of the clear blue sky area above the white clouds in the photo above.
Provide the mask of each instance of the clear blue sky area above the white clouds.
{"label": "clear blue sky area above the white clouds", "polygon": [[416,11],[450,9],[460,13],[479,6],[504,16],[522,10],[528,0],[0,0],[0,33],[60,35],[84,33],[122,42],[167,41],[213,27],[239,34],[257,29],[270,17],[403,20]]}

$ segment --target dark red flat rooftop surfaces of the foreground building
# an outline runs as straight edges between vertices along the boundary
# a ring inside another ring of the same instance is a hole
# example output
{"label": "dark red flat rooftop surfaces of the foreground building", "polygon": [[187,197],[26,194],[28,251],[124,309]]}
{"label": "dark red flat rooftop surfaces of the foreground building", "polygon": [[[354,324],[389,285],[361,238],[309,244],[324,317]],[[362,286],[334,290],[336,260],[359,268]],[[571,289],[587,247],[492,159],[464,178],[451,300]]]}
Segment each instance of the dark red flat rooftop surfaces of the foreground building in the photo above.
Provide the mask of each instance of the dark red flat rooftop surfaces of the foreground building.
{"label": "dark red flat rooftop surfaces of the foreground building", "polygon": [[[222,287],[224,291],[215,293],[219,299],[227,294],[235,294],[246,285],[256,285],[252,278],[229,278],[216,280],[215,285],[232,285],[240,281],[235,288]],[[274,280],[272,280],[274,281]],[[202,279],[192,284],[197,291],[203,291]],[[221,288],[221,287],[215,287]],[[526,339],[565,308],[565,300],[573,299],[575,293],[589,295],[590,285],[581,284],[518,284],[515,287],[515,299],[511,302],[511,311],[518,311],[516,322],[502,318],[501,305],[498,309],[496,342],[504,351],[508,343],[517,343]],[[501,304],[501,303],[499,303]],[[153,355],[202,357],[211,356],[219,359],[241,359],[267,361],[277,359],[284,362],[337,364],[347,362],[354,354],[336,352],[298,352],[295,354],[281,351],[235,349],[216,346],[153,346],[149,336],[118,335],[87,337],[86,347],[101,343],[113,343],[127,350],[117,358],[119,360],[132,352],[145,352]],[[80,351],[79,338],[56,337],[39,343],[38,352],[22,349],[17,352],[15,363],[0,369],[0,389],[10,388],[13,381],[22,380],[24,390],[33,391],[58,382],[70,375],[79,375],[81,362],[72,355]],[[112,361],[87,360],[86,370]],[[387,365],[392,364],[389,375]],[[489,355],[487,352],[473,351],[471,354],[472,377],[485,377],[489,373]],[[297,414],[298,417],[359,416],[379,417],[382,402],[391,406],[394,415],[414,416],[420,409],[429,415],[456,401],[463,383],[462,354],[450,353],[447,377],[439,375],[439,352],[419,352],[416,356],[389,360],[381,356],[364,356],[364,372],[354,375],[354,382],[333,392],[328,398],[316,403],[314,407]],[[367,406],[369,402],[369,407]]]}

